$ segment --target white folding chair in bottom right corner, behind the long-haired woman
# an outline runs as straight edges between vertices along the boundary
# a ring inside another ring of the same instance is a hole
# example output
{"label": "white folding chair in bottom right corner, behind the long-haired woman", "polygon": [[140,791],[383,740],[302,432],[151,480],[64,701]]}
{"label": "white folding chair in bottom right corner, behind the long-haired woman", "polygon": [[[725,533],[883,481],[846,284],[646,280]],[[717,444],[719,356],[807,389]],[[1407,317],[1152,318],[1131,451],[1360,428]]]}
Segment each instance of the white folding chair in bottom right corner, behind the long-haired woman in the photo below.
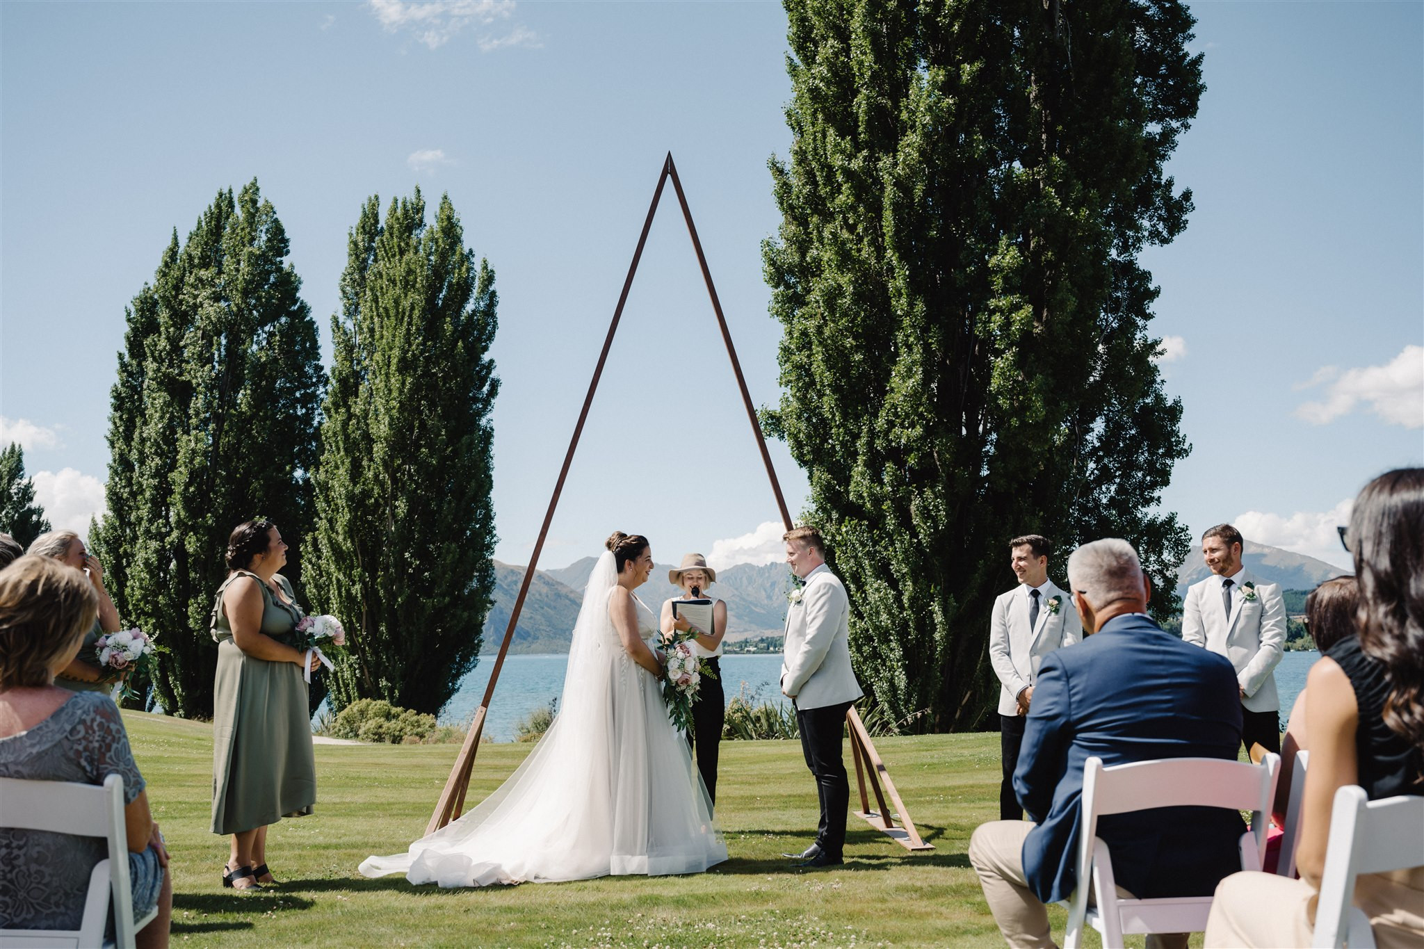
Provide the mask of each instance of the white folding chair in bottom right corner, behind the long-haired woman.
{"label": "white folding chair in bottom right corner, behind the long-haired woman", "polygon": [[1354,881],[1414,866],[1424,866],[1424,797],[1371,801],[1354,784],[1336,791],[1312,945],[1373,949],[1370,919],[1354,905]]}

